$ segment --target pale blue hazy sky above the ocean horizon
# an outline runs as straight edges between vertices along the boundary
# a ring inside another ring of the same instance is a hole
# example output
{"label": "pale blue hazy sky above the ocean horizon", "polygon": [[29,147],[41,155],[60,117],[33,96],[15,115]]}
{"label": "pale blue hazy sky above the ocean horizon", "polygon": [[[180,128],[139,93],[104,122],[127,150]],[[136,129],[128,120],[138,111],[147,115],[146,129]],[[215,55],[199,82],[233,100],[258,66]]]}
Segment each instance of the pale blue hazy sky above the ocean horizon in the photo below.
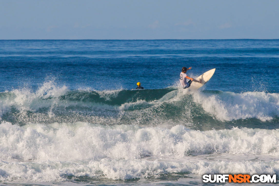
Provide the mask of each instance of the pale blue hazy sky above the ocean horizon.
{"label": "pale blue hazy sky above the ocean horizon", "polygon": [[278,0],[0,0],[0,39],[279,39]]}

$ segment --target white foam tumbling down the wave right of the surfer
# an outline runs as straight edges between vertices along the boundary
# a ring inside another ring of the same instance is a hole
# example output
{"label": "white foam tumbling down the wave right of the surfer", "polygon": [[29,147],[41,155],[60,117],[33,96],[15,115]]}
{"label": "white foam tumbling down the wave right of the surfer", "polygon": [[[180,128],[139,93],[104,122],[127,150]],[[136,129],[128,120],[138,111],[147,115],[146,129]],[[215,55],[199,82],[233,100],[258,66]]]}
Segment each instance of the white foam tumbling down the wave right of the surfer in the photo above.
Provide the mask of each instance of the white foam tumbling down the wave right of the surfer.
{"label": "white foam tumbling down the wave right of the surfer", "polygon": [[203,94],[196,92],[193,100],[203,109],[221,121],[257,118],[269,121],[279,116],[279,94],[265,92],[221,92]]}

